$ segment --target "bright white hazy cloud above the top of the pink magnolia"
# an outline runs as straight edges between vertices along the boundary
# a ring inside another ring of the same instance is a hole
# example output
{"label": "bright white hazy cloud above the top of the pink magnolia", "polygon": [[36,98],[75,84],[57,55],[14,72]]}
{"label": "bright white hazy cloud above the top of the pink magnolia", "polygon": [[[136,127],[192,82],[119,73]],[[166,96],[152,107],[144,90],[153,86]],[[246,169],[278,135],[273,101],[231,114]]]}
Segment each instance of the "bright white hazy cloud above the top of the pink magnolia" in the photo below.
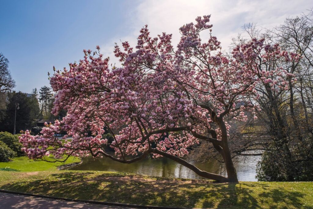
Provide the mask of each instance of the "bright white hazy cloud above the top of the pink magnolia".
{"label": "bright white hazy cloud above the top of the pink magnolia", "polygon": [[[133,2],[132,2],[133,3]],[[134,5],[132,5],[134,6]],[[152,36],[162,32],[173,34],[173,44],[179,41],[179,28],[185,23],[193,22],[197,16],[211,14],[213,35],[227,49],[231,38],[242,31],[245,23],[257,23],[263,28],[271,28],[284,22],[287,17],[295,17],[310,9],[313,0],[159,0],[141,1],[126,16],[127,36],[116,35],[111,43],[102,46],[103,52],[111,52],[114,42],[128,40],[136,44],[139,30],[145,24]],[[106,53],[113,62],[117,60],[113,53]]]}

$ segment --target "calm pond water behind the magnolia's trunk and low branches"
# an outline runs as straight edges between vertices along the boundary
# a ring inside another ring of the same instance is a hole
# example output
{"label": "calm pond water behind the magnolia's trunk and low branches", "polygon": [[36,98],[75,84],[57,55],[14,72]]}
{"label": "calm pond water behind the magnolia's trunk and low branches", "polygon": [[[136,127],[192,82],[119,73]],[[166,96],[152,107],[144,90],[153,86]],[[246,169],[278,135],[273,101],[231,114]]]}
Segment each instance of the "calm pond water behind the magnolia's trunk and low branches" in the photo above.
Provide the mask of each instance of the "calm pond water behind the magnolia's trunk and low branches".
{"label": "calm pond water behind the magnolia's trunk and low branches", "polygon": [[[257,181],[255,179],[256,164],[260,156],[239,157],[234,161],[239,181]],[[190,162],[199,169],[219,173],[226,176],[226,171],[219,167],[216,161],[209,162]],[[131,164],[123,164],[111,160],[110,158],[86,157],[79,166],[71,167],[69,170],[87,170],[87,171],[119,171],[127,173],[136,173],[147,176],[177,177],[190,179],[203,179],[189,168],[167,158],[151,159],[146,158]]]}

